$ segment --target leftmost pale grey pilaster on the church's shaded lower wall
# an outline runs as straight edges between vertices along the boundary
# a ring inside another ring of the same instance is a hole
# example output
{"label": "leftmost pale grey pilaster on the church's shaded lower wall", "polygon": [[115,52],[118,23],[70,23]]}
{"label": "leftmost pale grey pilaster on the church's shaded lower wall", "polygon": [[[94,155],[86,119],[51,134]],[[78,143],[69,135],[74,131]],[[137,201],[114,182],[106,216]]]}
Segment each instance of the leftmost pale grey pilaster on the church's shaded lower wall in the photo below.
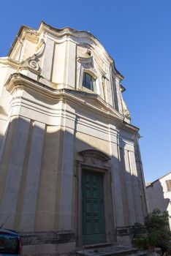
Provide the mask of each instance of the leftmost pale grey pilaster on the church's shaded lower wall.
{"label": "leftmost pale grey pilaster on the church's shaded lower wall", "polygon": [[20,180],[23,173],[23,163],[26,153],[26,143],[28,138],[29,120],[18,118],[15,137],[13,140],[11,155],[8,159],[8,174],[6,186],[4,188],[4,198],[1,203],[0,219],[8,217],[6,227],[14,228],[15,212],[18,204],[20,192]]}

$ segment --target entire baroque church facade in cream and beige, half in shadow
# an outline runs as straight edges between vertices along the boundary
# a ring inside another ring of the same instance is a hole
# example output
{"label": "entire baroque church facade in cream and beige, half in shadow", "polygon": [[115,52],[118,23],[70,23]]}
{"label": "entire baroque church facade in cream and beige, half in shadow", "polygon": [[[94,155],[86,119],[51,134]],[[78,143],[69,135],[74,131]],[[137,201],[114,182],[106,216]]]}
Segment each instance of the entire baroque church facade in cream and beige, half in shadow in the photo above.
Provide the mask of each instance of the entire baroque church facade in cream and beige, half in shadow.
{"label": "entire baroque church facade in cream and beige, half in shadow", "polygon": [[24,253],[129,244],[147,214],[123,76],[86,31],[22,26],[0,58],[0,219]]}

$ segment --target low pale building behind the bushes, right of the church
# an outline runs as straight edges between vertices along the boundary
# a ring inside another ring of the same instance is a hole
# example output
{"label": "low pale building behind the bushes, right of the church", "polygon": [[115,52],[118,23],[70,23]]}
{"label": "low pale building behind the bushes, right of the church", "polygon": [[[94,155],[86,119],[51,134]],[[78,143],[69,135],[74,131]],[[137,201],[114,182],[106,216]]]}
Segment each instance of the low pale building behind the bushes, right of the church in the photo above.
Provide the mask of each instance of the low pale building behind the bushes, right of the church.
{"label": "low pale building behind the bushes, right of the church", "polygon": [[[146,199],[148,213],[159,208],[161,212],[168,211],[171,216],[171,172],[146,184]],[[171,219],[169,222],[171,230]]]}

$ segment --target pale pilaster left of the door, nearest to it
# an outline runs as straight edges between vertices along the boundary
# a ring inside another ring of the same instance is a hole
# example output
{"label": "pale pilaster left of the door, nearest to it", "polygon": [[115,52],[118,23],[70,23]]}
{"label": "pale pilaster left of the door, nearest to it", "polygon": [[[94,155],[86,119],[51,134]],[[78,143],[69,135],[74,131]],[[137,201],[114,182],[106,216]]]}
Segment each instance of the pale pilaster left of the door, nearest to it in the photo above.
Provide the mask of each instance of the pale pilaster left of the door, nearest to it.
{"label": "pale pilaster left of the door, nearest to it", "polygon": [[[69,110],[69,111],[67,111]],[[64,152],[61,178],[61,217],[59,228],[72,229],[72,199],[75,156],[75,115],[73,109],[65,105],[64,115]]]}

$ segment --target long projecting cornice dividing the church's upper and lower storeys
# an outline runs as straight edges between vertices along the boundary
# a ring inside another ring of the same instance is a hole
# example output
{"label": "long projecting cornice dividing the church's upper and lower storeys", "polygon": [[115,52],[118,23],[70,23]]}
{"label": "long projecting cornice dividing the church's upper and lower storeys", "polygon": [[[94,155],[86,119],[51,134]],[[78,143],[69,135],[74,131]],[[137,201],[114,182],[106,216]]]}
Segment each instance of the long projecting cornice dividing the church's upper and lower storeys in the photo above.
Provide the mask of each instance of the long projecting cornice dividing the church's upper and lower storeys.
{"label": "long projecting cornice dividing the church's upper and lower storeys", "polygon": [[[10,94],[13,94],[16,89],[25,89],[26,91],[34,92],[34,94],[42,95],[42,97],[45,97],[45,99],[49,100],[50,102],[56,102],[56,100],[64,99],[77,106],[82,104],[82,107],[87,111],[91,110],[97,115],[117,121],[120,127],[129,129],[130,132],[137,133],[139,130],[132,124],[127,124],[123,120],[124,117],[118,113],[117,110],[113,109],[96,94],[88,94],[84,91],[75,91],[71,89],[53,89],[20,73],[10,75],[9,79],[5,83],[5,88]],[[104,106],[104,108],[98,108],[98,106],[96,107],[96,104],[93,104],[91,101],[88,102],[88,99],[94,99],[95,103],[99,103],[100,105]]]}

